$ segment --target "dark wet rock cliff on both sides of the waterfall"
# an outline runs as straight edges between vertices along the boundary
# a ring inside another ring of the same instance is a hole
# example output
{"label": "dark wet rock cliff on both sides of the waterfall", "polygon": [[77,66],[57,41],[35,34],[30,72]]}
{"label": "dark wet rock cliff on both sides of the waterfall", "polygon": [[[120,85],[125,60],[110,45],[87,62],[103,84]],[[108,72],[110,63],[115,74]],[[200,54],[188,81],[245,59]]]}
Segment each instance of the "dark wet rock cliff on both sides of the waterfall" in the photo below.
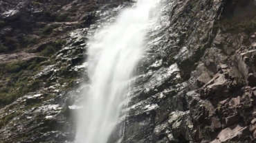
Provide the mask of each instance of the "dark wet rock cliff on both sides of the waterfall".
{"label": "dark wet rock cliff on both sides of the waterfall", "polygon": [[[0,1],[0,142],[73,142],[88,37],[130,4]],[[122,142],[255,142],[255,1],[163,0],[160,11]]]}

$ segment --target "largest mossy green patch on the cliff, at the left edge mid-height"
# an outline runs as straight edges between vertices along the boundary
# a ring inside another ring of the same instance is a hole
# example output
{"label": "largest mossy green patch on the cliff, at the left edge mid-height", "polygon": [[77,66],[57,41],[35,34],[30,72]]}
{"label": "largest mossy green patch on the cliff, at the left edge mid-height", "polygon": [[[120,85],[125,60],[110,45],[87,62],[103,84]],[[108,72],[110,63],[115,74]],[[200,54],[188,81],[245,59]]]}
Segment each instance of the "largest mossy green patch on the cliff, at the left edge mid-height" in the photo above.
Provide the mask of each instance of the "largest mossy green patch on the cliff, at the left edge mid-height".
{"label": "largest mossy green patch on the cliff, at the left edge mid-height", "polygon": [[[41,60],[42,61],[42,60]],[[15,61],[0,65],[0,107],[39,89],[42,80],[33,79],[40,69],[40,60]]]}

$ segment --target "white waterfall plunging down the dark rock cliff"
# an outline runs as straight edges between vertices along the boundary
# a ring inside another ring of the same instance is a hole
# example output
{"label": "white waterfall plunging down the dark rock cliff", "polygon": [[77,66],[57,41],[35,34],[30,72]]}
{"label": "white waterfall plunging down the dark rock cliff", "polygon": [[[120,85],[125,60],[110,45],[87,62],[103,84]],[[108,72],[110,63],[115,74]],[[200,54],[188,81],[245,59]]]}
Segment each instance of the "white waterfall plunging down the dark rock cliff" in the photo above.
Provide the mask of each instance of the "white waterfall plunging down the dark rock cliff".
{"label": "white waterfall plunging down the dark rock cliff", "polygon": [[89,41],[90,89],[78,115],[75,143],[107,143],[124,106],[129,79],[145,52],[149,22],[158,0],[138,0]]}

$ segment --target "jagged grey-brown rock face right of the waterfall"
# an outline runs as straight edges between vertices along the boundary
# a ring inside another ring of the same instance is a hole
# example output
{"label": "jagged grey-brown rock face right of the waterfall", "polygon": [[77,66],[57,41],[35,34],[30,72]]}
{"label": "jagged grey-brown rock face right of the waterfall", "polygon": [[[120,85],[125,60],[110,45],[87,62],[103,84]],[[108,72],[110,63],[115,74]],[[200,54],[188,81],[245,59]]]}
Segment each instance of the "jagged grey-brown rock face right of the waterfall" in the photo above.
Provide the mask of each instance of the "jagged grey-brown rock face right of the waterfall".
{"label": "jagged grey-brown rock face right of the waterfall", "polygon": [[255,142],[253,2],[165,5],[124,142]]}

